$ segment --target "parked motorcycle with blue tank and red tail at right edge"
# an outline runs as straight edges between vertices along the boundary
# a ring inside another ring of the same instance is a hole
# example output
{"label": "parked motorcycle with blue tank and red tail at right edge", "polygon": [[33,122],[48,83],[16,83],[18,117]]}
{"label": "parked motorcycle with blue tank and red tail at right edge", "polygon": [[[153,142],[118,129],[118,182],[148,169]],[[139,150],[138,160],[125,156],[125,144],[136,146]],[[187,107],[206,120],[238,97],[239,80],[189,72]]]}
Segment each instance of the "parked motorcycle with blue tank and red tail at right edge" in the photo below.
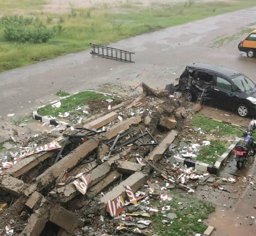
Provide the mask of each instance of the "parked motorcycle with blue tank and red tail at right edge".
{"label": "parked motorcycle with blue tank and red tail at right edge", "polygon": [[236,155],[235,161],[237,162],[238,170],[244,166],[249,156],[255,155],[256,150],[254,138],[252,136],[253,133],[255,133],[253,132],[253,129],[246,129],[242,135],[242,137],[244,137],[243,143],[235,146],[234,154]]}

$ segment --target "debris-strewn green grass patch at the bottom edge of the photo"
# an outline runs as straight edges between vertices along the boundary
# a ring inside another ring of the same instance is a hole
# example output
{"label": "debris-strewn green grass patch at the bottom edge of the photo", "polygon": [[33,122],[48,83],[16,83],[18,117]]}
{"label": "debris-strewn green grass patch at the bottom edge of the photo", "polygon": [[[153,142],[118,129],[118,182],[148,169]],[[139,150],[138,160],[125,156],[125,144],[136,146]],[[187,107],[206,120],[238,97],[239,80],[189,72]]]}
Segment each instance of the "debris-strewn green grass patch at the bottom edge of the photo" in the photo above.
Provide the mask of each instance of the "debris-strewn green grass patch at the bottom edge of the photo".
{"label": "debris-strewn green grass patch at the bottom edge of the photo", "polygon": [[[208,215],[214,211],[214,207],[210,204],[189,197],[188,195],[184,196],[177,193],[172,195],[173,200],[171,201],[150,202],[152,206],[157,206],[159,210],[158,215],[148,219],[152,221],[151,226],[155,231],[154,233],[159,236],[192,236],[195,235],[195,233],[204,233],[207,226],[203,222],[198,222],[198,220],[207,219]],[[178,202],[182,202],[182,205],[179,205]],[[164,205],[170,205],[171,208],[177,209],[177,211],[167,211],[167,213],[175,213],[177,218],[168,219],[167,217],[163,217],[161,208]],[[162,220],[167,220],[168,223],[163,224]],[[170,221],[173,223],[170,223]]]}

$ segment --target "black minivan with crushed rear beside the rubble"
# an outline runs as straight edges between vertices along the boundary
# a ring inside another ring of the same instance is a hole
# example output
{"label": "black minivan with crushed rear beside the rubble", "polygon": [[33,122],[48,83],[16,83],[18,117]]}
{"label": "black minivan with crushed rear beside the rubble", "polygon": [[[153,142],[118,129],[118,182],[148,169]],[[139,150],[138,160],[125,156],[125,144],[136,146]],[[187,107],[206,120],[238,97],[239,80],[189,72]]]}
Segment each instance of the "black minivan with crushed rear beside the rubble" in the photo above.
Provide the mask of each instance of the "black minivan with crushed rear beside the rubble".
{"label": "black minivan with crushed rear beside the rubble", "polygon": [[209,101],[241,117],[256,115],[256,84],[246,75],[214,64],[191,63],[179,78],[189,101]]}

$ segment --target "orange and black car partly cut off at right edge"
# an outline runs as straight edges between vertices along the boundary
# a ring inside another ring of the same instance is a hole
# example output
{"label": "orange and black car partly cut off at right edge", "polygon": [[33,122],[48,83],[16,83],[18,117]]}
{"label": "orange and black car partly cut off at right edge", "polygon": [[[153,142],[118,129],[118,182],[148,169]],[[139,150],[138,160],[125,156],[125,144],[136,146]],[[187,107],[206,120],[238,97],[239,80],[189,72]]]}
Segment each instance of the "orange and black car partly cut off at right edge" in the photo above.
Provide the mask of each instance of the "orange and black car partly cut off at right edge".
{"label": "orange and black car partly cut off at right edge", "polygon": [[256,55],[256,30],[251,32],[247,37],[238,44],[239,51],[246,52],[247,57]]}

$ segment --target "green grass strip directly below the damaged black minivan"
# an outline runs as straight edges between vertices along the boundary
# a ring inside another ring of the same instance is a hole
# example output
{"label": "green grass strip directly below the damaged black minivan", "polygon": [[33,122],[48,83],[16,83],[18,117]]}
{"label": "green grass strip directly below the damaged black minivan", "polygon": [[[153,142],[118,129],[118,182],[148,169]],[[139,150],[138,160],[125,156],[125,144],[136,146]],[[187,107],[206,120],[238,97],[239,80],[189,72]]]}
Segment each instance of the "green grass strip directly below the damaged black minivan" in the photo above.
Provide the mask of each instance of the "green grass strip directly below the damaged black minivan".
{"label": "green grass strip directly below the damaged black minivan", "polygon": [[[217,130],[219,136],[225,137],[233,137],[241,136],[243,134],[243,130],[240,127],[225,124],[218,122],[216,120],[195,115],[192,120],[188,123],[189,126],[194,126],[196,128],[201,128],[202,132],[210,133],[211,130]],[[219,128],[218,128],[219,127]]]}

